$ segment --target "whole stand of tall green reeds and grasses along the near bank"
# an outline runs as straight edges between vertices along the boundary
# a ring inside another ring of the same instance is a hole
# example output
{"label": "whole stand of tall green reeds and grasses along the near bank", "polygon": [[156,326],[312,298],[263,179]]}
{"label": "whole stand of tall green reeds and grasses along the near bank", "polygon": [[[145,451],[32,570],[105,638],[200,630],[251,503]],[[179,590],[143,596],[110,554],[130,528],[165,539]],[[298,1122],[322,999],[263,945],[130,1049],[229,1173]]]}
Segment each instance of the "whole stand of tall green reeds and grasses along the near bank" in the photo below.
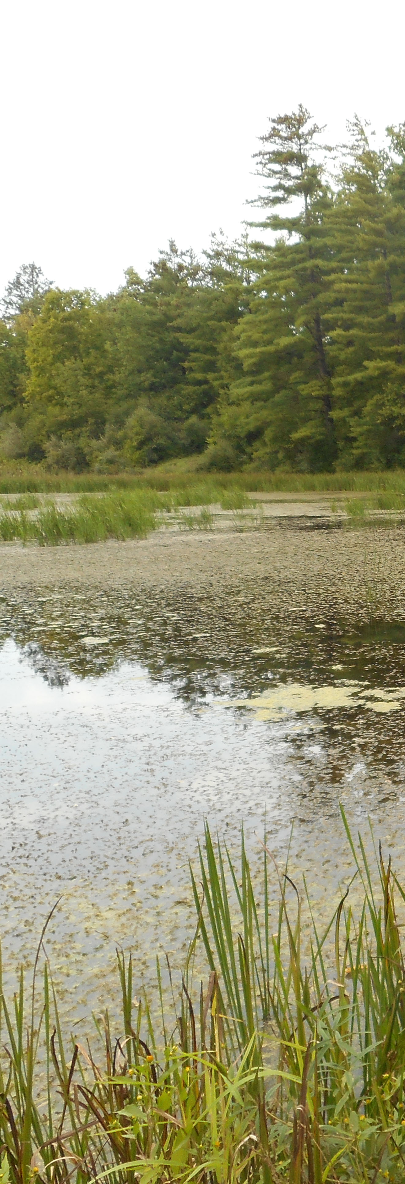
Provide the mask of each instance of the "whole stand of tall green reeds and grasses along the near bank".
{"label": "whole stand of tall green reeds and grasses along the near bank", "polygon": [[[66,1044],[46,960],[39,986],[44,927],[31,992],[21,973],[13,1011],[0,1002],[5,1182],[404,1180],[405,893],[381,849],[375,876],[341,812],[360,906],[349,884],[322,929],[265,837],[253,887],[243,837],[236,864],[206,826],[172,1022],[159,959],[158,1023],[146,999],[134,1003],[135,967],[118,952],[118,1029],[105,1011],[96,1048]],[[195,991],[198,944],[207,973]]]}

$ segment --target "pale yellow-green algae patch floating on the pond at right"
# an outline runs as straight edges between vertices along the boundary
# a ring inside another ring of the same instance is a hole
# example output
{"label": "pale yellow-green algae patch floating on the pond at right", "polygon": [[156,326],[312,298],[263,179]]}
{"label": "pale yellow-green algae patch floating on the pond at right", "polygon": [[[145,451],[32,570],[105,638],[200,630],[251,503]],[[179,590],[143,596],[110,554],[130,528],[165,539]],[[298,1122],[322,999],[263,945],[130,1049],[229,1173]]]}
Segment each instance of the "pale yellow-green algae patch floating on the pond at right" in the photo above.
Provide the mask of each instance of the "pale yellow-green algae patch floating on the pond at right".
{"label": "pale yellow-green algae patch floating on the pond at right", "polygon": [[405,687],[394,690],[371,688],[355,681],[311,687],[300,682],[278,683],[262,695],[229,701],[226,707],[246,707],[256,720],[281,720],[290,712],[336,710],[365,707],[372,712],[398,712],[404,706]]}

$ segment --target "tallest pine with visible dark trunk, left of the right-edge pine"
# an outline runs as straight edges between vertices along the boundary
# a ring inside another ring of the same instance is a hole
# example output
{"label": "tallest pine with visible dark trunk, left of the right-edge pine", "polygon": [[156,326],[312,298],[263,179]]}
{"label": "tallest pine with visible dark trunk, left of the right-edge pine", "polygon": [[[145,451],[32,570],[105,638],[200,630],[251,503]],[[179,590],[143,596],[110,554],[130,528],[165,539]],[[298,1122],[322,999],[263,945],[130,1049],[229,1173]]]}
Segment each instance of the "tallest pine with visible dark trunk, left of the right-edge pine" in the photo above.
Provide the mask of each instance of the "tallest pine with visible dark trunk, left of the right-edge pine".
{"label": "tallest pine with visible dark trunk, left of the right-edge pine", "polygon": [[251,316],[236,353],[243,375],[220,400],[214,435],[233,438],[242,456],[276,466],[330,468],[336,455],[332,368],[323,323],[330,268],[324,217],[333,202],[323,175],[322,131],[300,107],[270,120],[256,155],[266,185],[257,204],[261,229],[276,234],[257,244]]}

